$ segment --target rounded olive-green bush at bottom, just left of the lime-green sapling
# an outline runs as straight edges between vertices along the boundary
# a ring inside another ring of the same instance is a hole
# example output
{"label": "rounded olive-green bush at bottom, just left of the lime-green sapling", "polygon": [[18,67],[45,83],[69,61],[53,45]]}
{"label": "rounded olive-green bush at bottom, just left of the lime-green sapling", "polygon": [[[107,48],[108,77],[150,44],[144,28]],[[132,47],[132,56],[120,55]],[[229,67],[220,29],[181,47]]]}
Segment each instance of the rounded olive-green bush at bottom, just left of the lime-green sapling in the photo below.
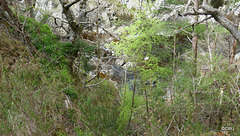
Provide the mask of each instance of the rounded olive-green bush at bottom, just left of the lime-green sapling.
{"label": "rounded olive-green bush at bottom, just left of the lime-green sapling", "polygon": [[119,116],[117,95],[118,90],[108,81],[91,90],[84,90],[84,95],[81,95],[79,108],[82,114],[79,118],[87,124],[94,135],[118,135],[116,131]]}

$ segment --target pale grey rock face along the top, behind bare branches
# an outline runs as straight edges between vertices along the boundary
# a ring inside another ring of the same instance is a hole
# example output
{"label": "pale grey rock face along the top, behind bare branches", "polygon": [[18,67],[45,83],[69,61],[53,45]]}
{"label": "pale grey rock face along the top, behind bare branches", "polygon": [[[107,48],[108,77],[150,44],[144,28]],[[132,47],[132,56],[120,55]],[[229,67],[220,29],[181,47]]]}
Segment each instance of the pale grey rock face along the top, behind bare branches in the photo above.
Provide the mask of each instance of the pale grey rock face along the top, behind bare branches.
{"label": "pale grey rock face along the top, behind bare branches", "polygon": [[[72,2],[73,0],[69,0],[69,2]],[[143,1],[144,2],[144,1]],[[156,0],[154,1],[154,7],[152,10],[157,10],[159,9],[160,5],[162,5],[164,3],[164,0]],[[76,17],[76,22],[96,22],[98,20],[98,24],[103,27],[105,30],[109,31],[109,33],[111,33],[112,35],[118,35],[118,28],[117,27],[121,27],[120,26],[116,26],[116,22],[119,20],[122,21],[126,21],[128,23],[130,23],[131,19],[134,18],[134,15],[132,13],[130,13],[128,10],[124,10],[124,8],[122,8],[122,6],[120,5],[124,5],[126,4],[128,9],[138,9],[140,7],[140,5],[138,4],[138,1],[136,0],[128,0],[128,1],[114,1],[112,3],[105,1],[105,0],[100,0],[99,1],[99,8],[95,9],[97,7],[96,2],[94,1],[88,1],[87,5],[86,5],[86,9],[84,9],[85,11],[89,11],[92,9],[92,12],[88,12],[87,13],[87,20],[82,20],[81,15],[79,14],[79,10],[81,10],[82,8],[80,8],[80,4],[74,4],[71,9],[73,14]],[[157,6],[156,6],[157,5]],[[65,29],[68,28],[68,24],[64,23],[62,21],[66,21],[64,15],[62,14],[62,7],[61,4],[59,3],[58,0],[36,0],[36,18],[39,19],[42,17],[42,14],[49,14],[53,17],[56,17],[56,20],[54,19],[50,19],[50,25],[54,28],[54,31],[57,34],[60,34],[61,36],[67,36],[67,32]],[[175,13],[176,11],[174,11]],[[169,13],[167,13],[169,14]],[[172,16],[172,13],[171,13]],[[168,18],[169,16],[165,16],[163,20],[165,20],[166,18]],[[58,27],[56,26],[56,22],[58,26],[62,26],[62,27]],[[87,29],[91,29],[94,32],[96,32],[96,26],[93,26],[92,24],[85,24],[85,27]],[[120,28],[121,29],[121,28]],[[104,30],[100,29],[99,33],[106,33]],[[101,38],[103,39],[103,38]],[[112,39],[111,38],[107,38],[108,40],[106,42],[110,42]]]}

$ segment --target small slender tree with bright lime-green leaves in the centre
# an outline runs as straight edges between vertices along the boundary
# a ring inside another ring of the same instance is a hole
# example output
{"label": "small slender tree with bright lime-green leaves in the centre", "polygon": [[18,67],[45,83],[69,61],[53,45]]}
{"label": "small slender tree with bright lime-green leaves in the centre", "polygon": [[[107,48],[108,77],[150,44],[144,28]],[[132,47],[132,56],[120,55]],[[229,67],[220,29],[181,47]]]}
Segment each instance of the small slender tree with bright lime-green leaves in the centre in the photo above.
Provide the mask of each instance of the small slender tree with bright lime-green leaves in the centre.
{"label": "small slender tree with bright lime-green leaves in the centre", "polygon": [[[142,84],[147,80],[154,81],[158,77],[164,78],[171,74],[171,68],[167,65],[172,56],[173,44],[170,37],[174,29],[171,29],[171,23],[149,17],[149,13],[149,7],[144,7],[134,22],[122,30],[121,40],[107,45],[108,48],[113,48],[118,56],[124,55],[128,61],[134,63],[134,71],[137,71],[137,77]],[[151,87],[142,87],[139,91],[141,90],[145,92],[148,107],[147,99],[151,96]],[[148,110],[146,108],[147,114]]]}

